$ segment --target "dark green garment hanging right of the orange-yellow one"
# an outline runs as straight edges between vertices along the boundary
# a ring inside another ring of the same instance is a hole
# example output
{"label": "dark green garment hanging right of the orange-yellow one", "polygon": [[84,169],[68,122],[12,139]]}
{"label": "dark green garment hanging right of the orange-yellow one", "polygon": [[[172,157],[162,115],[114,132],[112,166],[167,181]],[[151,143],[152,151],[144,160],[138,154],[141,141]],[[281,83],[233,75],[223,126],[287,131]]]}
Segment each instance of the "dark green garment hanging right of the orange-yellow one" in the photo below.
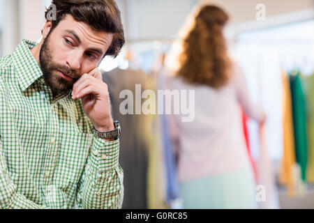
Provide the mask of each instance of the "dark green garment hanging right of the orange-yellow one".
{"label": "dark green garment hanging right of the orange-yellow one", "polygon": [[290,88],[292,96],[295,154],[297,163],[299,163],[301,167],[302,180],[305,181],[306,164],[308,159],[306,108],[299,72],[297,72],[297,75],[290,75]]}

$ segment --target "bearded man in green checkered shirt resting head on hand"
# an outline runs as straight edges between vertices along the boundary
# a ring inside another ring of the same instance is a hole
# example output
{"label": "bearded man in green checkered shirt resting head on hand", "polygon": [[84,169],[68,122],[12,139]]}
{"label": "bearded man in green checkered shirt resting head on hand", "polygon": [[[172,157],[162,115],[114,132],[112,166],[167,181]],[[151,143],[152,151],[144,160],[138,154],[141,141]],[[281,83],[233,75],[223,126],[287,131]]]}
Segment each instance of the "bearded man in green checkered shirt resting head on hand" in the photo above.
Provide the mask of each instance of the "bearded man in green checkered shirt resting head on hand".
{"label": "bearded man in green checkered shirt resting head on hand", "polygon": [[124,45],[119,9],[52,3],[43,40],[0,60],[0,208],[121,208],[119,122],[97,68]]}

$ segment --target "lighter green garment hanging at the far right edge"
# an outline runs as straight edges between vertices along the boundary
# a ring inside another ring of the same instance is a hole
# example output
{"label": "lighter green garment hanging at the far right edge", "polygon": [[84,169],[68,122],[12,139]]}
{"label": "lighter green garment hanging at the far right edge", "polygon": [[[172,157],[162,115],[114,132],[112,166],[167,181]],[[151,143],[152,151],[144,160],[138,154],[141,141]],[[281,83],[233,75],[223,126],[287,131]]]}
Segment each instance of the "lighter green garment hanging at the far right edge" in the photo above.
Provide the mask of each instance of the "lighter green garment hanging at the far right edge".
{"label": "lighter green garment hanging at the far right edge", "polygon": [[308,135],[308,163],[306,180],[314,183],[314,74],[301,78],[306,101],[306,128]]}

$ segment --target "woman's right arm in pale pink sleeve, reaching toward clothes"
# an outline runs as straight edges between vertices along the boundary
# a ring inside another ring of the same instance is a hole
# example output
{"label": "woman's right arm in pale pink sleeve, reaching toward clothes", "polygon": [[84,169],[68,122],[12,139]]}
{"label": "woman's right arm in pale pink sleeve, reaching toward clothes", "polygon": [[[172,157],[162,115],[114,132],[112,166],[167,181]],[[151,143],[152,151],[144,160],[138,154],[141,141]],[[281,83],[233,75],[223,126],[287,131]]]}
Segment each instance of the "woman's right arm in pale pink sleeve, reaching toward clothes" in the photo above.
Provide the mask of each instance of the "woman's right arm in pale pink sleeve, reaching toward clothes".
{"label": "woman's right arm in pale pink sleeve, reaching toward clothes", "polygon": [[244,72],[237,63],[234,64],[234,79],[237,91],[237,98],[240,105],[244,109],[244,113],[246,114],[246,116],[253,118],[256,121],[262,121],[262,109],[260,106],[253,105],[250,94],[248,93],[248,85],[246,83],[246,78],[244,77]]}

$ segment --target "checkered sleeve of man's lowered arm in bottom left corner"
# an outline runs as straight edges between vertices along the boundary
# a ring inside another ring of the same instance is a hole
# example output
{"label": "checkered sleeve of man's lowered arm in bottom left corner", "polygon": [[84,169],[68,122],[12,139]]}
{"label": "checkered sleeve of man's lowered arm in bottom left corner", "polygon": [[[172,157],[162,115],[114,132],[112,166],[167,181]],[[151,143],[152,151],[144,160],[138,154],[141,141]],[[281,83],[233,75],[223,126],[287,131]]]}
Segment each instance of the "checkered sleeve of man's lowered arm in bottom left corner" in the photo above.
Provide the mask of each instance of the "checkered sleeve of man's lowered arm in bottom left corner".
{"label": "checkered sleeve of man's lowered arm in bottom left corner", "polygon": [[[1,137],[0,137],[1,139]],[[6,159],[3,153],[3,145],[0,140],[0,208],[6,209],[45,209],[47,206],[40,206],[27,199],[23,194],[17,192],[17,187],[10,180]]]}

